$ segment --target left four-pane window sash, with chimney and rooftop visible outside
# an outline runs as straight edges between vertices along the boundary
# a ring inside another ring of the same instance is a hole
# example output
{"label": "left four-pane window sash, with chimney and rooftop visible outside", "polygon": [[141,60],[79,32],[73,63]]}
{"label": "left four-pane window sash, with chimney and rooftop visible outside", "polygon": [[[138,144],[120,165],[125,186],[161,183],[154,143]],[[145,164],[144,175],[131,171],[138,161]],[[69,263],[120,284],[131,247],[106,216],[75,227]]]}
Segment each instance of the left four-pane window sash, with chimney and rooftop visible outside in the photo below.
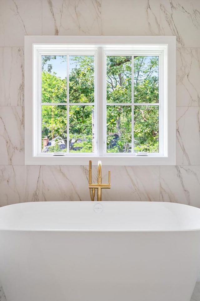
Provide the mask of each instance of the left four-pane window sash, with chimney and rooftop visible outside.
{"label": "left four-pane window sash, with chimney and rooftop visible outside", "polygon": [[42,153],[96,153],[94,62],[78,50],[41,56]]}

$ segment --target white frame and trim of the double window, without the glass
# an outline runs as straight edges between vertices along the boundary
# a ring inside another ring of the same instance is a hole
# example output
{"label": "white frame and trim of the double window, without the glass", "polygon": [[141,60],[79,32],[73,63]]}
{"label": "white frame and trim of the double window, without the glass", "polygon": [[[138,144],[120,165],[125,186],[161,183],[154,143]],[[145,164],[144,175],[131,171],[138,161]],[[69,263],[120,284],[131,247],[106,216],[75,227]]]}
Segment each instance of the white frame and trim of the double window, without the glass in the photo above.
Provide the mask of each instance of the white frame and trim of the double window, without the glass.
{"label": "white frame and trim of the double window, without the glass", "polygon": [[[101,160],[104,165],[176,165],[176,37],[25,36],[24,38],[26,165],[88,165],[89,160],[93,160],[93,164]],[[95,118],[98,120],[98,126],[95,128],[95,146],[98,145],[98,149],[96,147],[94,154],[72,153],[58,157],[53,156],[52,153],[38,151],[38,143],[41,141],[41,55],[52,55],[52,51],[54,55],[66,54],[66,46],[70,53],[79,49],[83,54],[94,54],[95,62],[98,66],[102,66],[98,70],[98,76],[96,74],[95,77]],[[159,129],[162,129],[162,132],[159,133],[159,153],[151,153],[148,156],[104,152],[106,148],[106,141],[103,141],[103,137],[106,137],[105,57],[122,53],[130,55],[133,50],[139,55],[150,55],[150,53],[159,55],[159,103],[162,101],[162,104],[159,104]]]}

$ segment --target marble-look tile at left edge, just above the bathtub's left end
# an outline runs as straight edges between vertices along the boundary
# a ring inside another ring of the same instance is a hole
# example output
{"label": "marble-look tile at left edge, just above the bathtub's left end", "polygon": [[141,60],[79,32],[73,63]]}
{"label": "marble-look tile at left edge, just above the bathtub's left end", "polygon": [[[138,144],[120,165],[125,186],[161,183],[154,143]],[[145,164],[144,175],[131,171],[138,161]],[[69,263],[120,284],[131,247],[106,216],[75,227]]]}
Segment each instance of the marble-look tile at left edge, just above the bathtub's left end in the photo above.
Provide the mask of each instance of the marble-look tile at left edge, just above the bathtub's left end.
{"label": "marble-look tile at left edge, just above the bathtub's left end", "polygon": [[0,166],[0,206],[42,201],[41,166]]}

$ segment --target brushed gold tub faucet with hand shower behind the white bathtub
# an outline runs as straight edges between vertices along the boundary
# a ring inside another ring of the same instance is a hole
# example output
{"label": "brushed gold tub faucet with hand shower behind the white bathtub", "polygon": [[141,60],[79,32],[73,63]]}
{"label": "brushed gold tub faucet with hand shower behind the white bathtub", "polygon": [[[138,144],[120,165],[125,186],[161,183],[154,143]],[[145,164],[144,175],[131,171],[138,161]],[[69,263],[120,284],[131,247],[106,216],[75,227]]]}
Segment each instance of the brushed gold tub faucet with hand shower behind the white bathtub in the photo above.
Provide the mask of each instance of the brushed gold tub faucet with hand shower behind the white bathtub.
{"label": "brushed gold tub faucet with hand shower behind the white bathtub", "polygon": [[92,161],[89,161],[89,190],[91,201],[94,201],[95,189],[97,188],[97,200],[101,201],[101,190],[103,188],[110,189],[110,170],[108,170],[108,184],[102,184],[101,177],[101,161],[98,161],[98,179],[97,184],[92,184]]}

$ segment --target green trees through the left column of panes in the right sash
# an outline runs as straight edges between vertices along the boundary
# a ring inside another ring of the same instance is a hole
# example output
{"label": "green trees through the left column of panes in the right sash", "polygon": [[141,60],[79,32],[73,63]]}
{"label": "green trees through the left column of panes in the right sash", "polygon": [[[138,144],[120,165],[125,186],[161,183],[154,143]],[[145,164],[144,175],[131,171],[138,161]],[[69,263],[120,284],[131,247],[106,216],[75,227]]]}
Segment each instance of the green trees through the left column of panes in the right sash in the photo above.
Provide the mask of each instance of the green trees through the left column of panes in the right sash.
{"label": "green trees through the left column of panes in the right sash", "polygon": [[129,152],[132,141],[131,57],[107,57],[107,152]]}

